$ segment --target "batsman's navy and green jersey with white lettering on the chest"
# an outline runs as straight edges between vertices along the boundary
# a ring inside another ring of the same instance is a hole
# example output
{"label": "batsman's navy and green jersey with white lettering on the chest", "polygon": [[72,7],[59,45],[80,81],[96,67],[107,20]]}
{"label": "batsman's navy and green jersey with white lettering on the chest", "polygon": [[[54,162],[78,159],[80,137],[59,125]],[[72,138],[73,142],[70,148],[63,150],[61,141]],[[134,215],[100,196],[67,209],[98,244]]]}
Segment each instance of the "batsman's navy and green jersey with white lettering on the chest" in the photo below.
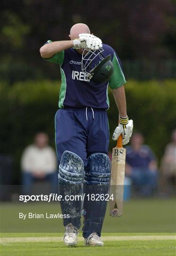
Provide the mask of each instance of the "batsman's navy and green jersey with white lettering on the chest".
{"label": "batsman's navy and green jersey with white lettering on the chest", "polygon": [[[51,41],[47,41],[50,43]],[[82,55],[75,49],[69,48],[55,54],[50,62],[59,64],[61,72],[61,87],[59,93],[59,108],[109,109],[108,86],[116,89],[126,83],[120,59],[116,52],[108,45],[103,44],[103,56],[111,55],[114,72],[109,82],[97,84],[88,80],[81,70]],[[97,58],[97,60],[96,60]],[[98,57],[92,61],[92,67],[99,63]]]}

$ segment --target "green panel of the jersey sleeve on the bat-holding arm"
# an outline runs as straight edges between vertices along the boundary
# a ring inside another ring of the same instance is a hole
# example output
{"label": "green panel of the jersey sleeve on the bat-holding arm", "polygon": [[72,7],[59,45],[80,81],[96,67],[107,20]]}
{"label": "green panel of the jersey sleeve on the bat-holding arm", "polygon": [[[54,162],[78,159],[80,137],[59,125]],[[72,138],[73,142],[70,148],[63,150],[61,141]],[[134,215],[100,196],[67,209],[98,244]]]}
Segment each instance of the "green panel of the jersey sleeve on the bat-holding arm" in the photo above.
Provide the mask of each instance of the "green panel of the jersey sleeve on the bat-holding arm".
{"label": "green panel of the jersey sleeve on the bat-holding arm", "polygon": [[116,88],[122,86],[124,83],[126,83],[126,79],[122,72],[122,69],[120,67],[120,64],[118,62],[118,59],[117,59],[117,56],[115,53],[113,56],[112,64],[114,66],[114,72],[110,77],[109,87],[111,89],[116,89]]}

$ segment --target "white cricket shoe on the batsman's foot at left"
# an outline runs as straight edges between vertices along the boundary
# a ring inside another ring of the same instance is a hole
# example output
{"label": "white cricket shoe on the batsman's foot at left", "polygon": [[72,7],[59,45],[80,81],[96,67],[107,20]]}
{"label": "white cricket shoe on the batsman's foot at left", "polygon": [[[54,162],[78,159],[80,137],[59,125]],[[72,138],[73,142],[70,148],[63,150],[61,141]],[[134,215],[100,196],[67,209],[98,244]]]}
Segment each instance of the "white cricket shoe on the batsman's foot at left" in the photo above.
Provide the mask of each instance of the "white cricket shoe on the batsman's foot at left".
{"label": "white cricket shoe on the batsman's foot at left", "polygon": [[66,226],[66,232],[64,235],[64,242],[67,246],[75,246],[77,245],[77,236],[79,232],[78,230],[71,224],[69,223]]}

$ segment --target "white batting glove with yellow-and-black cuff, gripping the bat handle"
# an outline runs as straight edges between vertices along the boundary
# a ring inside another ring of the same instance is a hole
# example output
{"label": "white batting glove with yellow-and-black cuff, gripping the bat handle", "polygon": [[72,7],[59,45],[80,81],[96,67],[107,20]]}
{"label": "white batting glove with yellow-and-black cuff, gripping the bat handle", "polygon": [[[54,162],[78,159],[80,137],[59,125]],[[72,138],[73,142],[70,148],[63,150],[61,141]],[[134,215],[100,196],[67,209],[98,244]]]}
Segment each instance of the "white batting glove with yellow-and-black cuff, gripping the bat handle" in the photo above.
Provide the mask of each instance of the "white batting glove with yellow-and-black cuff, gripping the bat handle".
{"label": "white batting glove with yellow-and-black cuff, gripping the bat handle", "polygon": [[122,144],[126,145],[130,141],[133,132],[133,120],[128,120],[128,117],[120,117],[119,125],[116,127],[112,139],[117,140],[117,138],[122,134],[123,140]]}

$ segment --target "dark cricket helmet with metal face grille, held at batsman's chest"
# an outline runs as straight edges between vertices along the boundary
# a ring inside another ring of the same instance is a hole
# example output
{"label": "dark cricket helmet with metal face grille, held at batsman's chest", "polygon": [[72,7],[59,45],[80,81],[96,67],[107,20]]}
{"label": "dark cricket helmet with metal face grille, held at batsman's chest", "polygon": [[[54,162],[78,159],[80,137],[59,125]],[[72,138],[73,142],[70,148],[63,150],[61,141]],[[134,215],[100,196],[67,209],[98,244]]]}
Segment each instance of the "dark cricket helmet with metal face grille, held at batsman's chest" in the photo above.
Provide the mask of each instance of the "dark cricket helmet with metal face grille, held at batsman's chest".
{"label": "dark cricket helmet with metal face grille, held at batsman's chest", "polygon": [[[104,57],[103,51],[103,48],[95,51],[85,48],[82,54],[82,72],[94,83],[105,83],[109,81],[113,73],[111,55]],[[97,63],[94,67],[92,67],[92,61]]]}

